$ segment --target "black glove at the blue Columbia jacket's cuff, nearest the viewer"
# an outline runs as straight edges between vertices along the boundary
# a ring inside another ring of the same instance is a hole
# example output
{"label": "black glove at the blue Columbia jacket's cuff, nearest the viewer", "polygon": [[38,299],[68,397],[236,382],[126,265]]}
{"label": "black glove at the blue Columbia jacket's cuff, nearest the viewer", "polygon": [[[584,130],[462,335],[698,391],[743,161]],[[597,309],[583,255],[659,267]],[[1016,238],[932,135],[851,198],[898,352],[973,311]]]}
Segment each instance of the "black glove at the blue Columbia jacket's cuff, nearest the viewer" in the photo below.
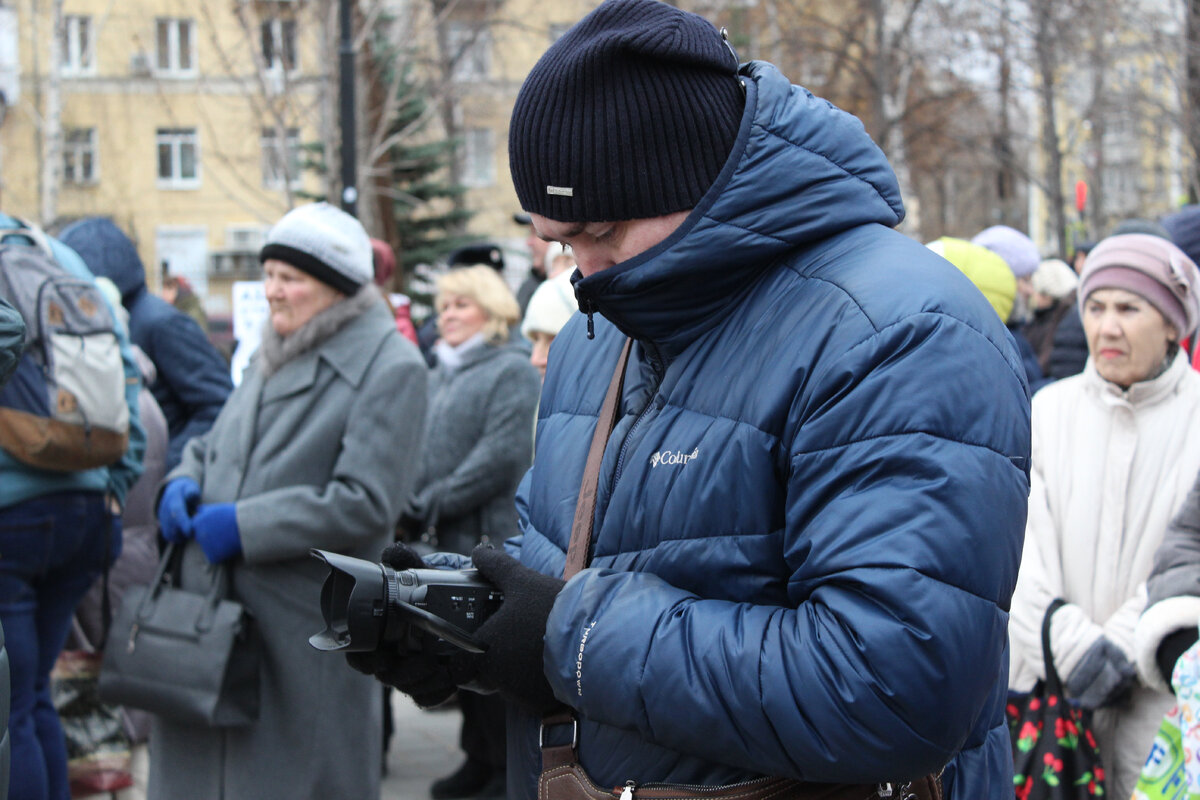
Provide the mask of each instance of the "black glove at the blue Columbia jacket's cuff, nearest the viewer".
{"label": "black glove at the blue Columbia jacket's cuff, nearest the viewer", "polygon": [[[542,666],[546,619],[563,581],[523,566],[503,549],[480,545],[472,554],[479,573],[504,593],[504,602],[484,622],[475,638],[487,645],[481,655],[461,654],[454,661],[469,661],[478,668],[476,682],[505,698],[545,714],[559,703],[546,680]],[[460,670],[466,672],[460,667]]]}

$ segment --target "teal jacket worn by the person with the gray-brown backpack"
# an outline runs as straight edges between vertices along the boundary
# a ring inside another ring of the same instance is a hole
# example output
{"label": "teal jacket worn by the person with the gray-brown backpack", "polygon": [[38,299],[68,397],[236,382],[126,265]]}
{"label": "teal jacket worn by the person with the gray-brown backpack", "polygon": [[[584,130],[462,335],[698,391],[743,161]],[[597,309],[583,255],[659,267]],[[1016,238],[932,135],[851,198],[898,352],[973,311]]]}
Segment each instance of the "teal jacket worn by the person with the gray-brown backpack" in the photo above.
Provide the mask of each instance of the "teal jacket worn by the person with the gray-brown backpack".
{"label": "teal jacket worn by the person with the gray-brown backpack", "polygon": [[[0,213],[0,229],[11,230],[22,227],[13,217]],[[0,241],[11,242],[16,236],[10,234]],[[23,237],[22,237],[23,239]],[[26,240],[32,246],[31,240]],[[79,277],[95,279],[79,255],[56,239],[49,237],[50,249],[68,272]],[[114,311],[114,317],[116,313]],[[118,325],[116,337],[121,344],[121,361],[125,363],[125,401],[130,407],[130,446],[119,462],[107,468],[82,470],[78,473],[55,473],[36,469],[23,464],[0,450],[0,509],[6,509],[31,498],[59,492],[112,492],[125,506],[125,494],[133,481],[142,474],[142,457],[145,453],[146,437],[138,419],[138,389],[140,373],[130,349],[130,339],[121,325]]]}

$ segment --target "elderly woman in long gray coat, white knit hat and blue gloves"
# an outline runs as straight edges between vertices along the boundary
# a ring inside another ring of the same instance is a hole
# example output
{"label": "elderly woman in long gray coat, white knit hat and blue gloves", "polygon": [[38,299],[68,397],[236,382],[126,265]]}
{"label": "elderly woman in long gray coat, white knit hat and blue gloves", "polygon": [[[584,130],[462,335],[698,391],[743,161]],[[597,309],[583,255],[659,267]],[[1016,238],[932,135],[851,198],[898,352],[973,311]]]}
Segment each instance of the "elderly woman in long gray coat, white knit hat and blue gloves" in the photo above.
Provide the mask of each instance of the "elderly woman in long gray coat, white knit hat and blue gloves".
{"label": "elderly woman in long gray coat, white knit hat and blue gloves", "polygon": [[270,319],[242,383],[167,476],[163,536],[186,541],[185,585],[230,567],[264,640],[260,710],[247,727],[156,718],[151,799],[377,798],[377,685],[308,637],[326,570],[308,551],[376,560],[415,477],[426,368],[372,279],[362,225],[324,203],[268,234]]}

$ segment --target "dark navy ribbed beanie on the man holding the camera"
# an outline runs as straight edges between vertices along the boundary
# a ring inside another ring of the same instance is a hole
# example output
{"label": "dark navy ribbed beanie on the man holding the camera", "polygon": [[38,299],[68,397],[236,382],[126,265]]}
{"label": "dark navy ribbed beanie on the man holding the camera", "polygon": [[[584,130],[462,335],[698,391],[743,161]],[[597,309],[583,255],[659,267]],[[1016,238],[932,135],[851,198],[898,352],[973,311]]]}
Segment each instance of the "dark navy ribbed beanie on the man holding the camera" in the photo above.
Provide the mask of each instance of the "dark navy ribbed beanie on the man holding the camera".
{"label": "dark navy ribbed beanie on the man holding the camera", "polygon": [[526,211],[559,222],[691,209],[742,122],[737,59],[706,19],[659,0],[607,0],[534,66],[509,127]]}

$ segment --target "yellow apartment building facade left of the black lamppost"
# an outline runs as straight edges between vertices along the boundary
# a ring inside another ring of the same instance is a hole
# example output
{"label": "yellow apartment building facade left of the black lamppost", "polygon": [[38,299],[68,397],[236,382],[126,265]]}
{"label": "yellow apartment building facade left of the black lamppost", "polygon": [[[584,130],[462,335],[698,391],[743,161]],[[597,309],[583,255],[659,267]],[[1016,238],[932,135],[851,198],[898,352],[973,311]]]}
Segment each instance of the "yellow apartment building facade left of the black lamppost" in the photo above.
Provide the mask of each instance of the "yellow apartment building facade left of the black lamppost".
{"label": "yellow apartment building facade left of the black lamppost", "polygon": [[0,207],[50,229],[110,217],[152,290],[181,275],[228,311],[232,282],[258,277],[265,229],[322,190],[300,162],[329,124],[320,5],[0,7]]}

